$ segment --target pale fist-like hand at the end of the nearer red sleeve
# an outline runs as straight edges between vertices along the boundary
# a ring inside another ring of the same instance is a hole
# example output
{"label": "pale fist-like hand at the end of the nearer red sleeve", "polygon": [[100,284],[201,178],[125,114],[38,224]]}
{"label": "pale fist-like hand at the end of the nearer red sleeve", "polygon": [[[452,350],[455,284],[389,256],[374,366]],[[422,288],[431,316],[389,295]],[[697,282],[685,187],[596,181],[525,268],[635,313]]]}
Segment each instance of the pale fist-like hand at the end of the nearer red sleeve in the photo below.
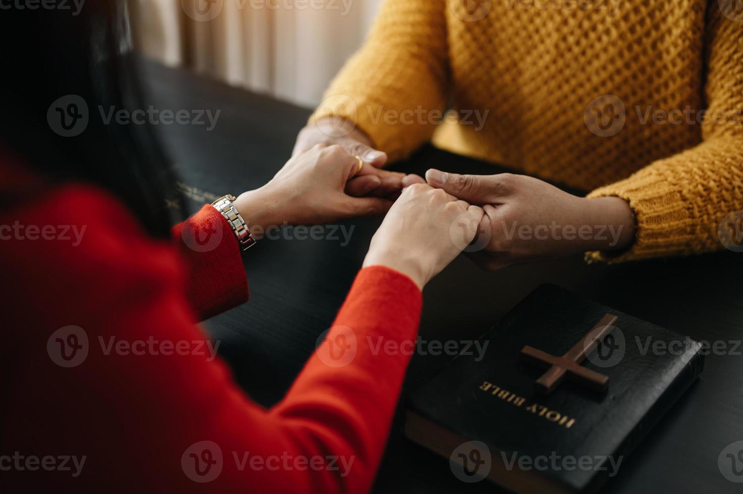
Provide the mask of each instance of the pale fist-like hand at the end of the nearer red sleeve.
{"label": "pale fist-like hand at the end of the nearer red sleeve", "polygon": [[423,289],[472,242],[482,217],[481,208],[441,189],[411,185],[371,239],[363,266],[388,266]]}

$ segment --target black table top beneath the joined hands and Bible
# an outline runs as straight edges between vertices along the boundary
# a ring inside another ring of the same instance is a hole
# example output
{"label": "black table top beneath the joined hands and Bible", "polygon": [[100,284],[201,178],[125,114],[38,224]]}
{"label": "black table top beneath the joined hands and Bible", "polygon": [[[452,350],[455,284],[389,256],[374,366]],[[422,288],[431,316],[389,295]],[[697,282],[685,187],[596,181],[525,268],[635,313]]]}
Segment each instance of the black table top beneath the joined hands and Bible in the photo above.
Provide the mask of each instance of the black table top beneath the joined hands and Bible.
{"label": "black table top beneath the joined hands and Bible", "polygon": [[[310,113],[267,96],[230,88],[184,70],[145,62],[155,108],[220,110],[208,125],[160,125],[180,171],[189,208],[215,196],[257,188],[290,157]],[[460,173],[506,171],[426,146],[393,169]],[[207,321],[239,385],[260,404],[282,398],[317,337],[331,325],[380,219],[344,222],[351,241],[263,240],[245,257],[250,302]],[[743,254],[724,251],[667,260],[588,266],[583,257],[513,266],[494,273],[455,260],[424,292],[421,337],[471,340],[540,283],[556,283],[614,309],[695,340],[743,339]],[[733,345],[728,346],[729,349]],[[740,492],[718,469],[718,455],[743,440],[743,356],[708,355],[700,380],[678,401],[606,484],[608,493]],[[450,359],[414,355],[375,492],[499,492],[487,481],[464,484],[448,460],[407,441],[403,406],[409,392]]]}

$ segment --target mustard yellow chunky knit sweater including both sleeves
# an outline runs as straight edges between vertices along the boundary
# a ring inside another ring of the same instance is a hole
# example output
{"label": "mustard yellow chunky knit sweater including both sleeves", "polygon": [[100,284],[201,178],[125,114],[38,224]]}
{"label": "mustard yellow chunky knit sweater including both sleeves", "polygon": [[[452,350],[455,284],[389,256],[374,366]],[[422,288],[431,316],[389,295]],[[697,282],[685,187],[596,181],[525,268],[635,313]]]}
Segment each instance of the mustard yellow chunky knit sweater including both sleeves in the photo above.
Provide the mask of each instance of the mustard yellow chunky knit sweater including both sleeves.
{"label": "mustard yellow chunky knit sweater including both sleeves", "polygon": [[743,209],[737,5],[385,0],[312,120],[352,119],[392,159],[433,138],[623,197],[637,232],[612,260],[720,249],[718,224]]}

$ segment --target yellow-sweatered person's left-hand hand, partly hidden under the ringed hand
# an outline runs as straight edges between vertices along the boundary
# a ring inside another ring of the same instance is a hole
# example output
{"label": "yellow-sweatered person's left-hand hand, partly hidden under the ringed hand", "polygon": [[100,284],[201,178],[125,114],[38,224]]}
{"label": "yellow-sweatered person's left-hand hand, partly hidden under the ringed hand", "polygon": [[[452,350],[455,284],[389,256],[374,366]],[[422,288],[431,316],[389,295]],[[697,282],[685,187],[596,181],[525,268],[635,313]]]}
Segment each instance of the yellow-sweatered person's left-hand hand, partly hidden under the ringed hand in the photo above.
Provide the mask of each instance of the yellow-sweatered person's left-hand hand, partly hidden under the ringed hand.
{"label": "yellow-sweatered person's left-hand hand, partly hidden under the ringed hand", "polygon": [[397,197],[400,194],[405,174],[380,170],[379,168],[387,162],[387,155],[374,149],[369,137],[355,128],[351,121],[328,117],[314,125],[308,125],[299,131],[292,156],[307,151],[316,144],[337,144],[351,156],[363,159],[364,168],[360,174],[348,180],[346,194],[354,197],[366,195]]}

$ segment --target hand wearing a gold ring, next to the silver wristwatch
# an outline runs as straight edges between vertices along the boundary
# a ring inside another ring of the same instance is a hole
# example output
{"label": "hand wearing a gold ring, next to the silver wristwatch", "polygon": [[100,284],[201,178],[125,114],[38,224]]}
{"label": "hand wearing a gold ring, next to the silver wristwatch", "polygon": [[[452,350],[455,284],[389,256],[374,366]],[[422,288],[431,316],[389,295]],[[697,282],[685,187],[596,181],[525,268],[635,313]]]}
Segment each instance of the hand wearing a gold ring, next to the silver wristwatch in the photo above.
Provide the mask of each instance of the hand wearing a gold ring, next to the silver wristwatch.
{"label": "hand wearing a gold ring, next to the silver wristwatch", "polygon": [[339,145],[315,145],[292,157],[262,188],[238,197],[235,207],[258,236],[284,223],[307,225],[383,214],[392,200],[351,197],[344,191],[348,180],[366,168],[373,167],[365,164],[357,174],[358,160]]}

